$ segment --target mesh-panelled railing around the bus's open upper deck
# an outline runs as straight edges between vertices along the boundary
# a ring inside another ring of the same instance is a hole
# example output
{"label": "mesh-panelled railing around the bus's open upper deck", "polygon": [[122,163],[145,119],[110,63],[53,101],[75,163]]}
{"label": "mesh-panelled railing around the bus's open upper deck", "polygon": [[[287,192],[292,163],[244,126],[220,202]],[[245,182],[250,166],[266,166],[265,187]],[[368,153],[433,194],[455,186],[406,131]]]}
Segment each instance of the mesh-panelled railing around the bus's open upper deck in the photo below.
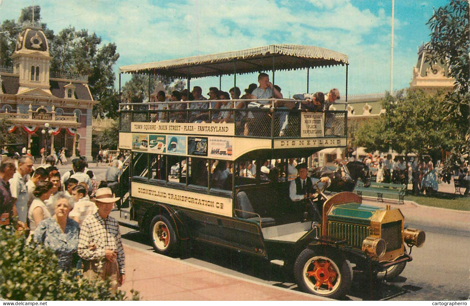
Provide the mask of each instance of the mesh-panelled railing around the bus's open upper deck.
{"label": "mesh-panelled railing around the bus's open upper deck", "polygon": [[[212,108],[215,103],[222,108]],[[253,103],[254,102],[254,103]],[[262,103],[267,105],[262,105]],[[240,103],[243,103],[241,108]],[[248,107],[247,105],[248,104]],[[257,104],[258,103],[258,104]],[[205,104],[205,108],[203,108]],[[261,106],[262,105],[262,106]],[[258,107],[261,106],[261,107]],[[119,131],[130,132],[131,122],[172,122],[234,124],[234,135],[253,138],[301,138],[305,129],[317,133],[313,137],[346,137],[347,111],[309,113],[300,109],[294,99],[235,99],[151,103],[121,103]],[[302,115],[304,114],[304,115]],[[307,114],[316,114],[320,121],[308,122]],[[318,123],[321,126],[317,126]],[[319,134],[318,132],[321,131]],[[312,137],[312,134],[308,134]]]}

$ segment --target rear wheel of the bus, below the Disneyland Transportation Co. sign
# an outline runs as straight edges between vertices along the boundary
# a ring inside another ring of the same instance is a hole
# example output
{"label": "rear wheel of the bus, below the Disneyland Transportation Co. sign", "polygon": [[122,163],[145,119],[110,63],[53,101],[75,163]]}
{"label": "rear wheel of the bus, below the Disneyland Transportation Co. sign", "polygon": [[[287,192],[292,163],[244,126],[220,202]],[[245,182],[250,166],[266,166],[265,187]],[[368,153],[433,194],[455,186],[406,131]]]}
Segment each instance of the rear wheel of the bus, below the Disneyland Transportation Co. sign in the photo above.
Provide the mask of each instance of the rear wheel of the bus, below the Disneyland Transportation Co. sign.
{"label": "rear wheel of the bus, below the Disneyland Transportation Co. sign", "polygon": [[157,253],[170,255],[177,250],[177,238],[172,223],[161,214],[157,214],[150,223],[150,240]]}

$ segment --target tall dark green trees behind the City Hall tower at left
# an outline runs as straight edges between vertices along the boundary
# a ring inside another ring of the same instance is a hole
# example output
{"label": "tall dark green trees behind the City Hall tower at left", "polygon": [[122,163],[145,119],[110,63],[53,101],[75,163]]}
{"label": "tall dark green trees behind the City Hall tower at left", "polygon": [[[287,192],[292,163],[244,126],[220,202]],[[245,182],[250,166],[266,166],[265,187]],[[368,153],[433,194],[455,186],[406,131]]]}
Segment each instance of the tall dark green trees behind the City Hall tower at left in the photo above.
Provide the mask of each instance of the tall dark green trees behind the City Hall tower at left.
{"label": "tall dark green trees behind the City Hall tower at left", "polygon": [[[119,58],[116,52],[116,44],[102,44],[101,37],[96,33],[88,33],[87,30],[75,30],[68,27],[57,35],[40,21],[40,7],[30,6],[23,8],[17,21],[5,20],[0,26],[0,65],[11,66],[13,62],[10,56],[15,51],[16,38],[25,25],[32,23],[32,10],[34,8],[35,25],[42,28],[49,45],[51,60],[50,71],[72,75],[88,76],[88,86],[93,99],[99,100],[95,105],[94,114],[97,115],[103,109],[108,109],[108,116],[116,116],[117,93],[114,89],[116,76],[113,65]],[[101,101],[105,100],[102,104]],[[113,109],[109,107],[113,106]]]}

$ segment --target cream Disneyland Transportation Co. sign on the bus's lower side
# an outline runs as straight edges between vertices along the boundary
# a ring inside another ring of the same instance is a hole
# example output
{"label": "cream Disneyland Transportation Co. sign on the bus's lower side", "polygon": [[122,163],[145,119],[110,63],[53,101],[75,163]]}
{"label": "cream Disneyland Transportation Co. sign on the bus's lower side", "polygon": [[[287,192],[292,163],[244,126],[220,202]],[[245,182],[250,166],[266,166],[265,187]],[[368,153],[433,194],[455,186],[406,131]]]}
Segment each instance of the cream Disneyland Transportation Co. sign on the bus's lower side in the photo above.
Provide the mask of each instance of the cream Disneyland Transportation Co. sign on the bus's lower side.
{"label": "cream Disneyland Transportation Co. sign on the bus's lower side", "polygon": [[232,199],[132,182],[132,196],[206,213],[232,216]]}

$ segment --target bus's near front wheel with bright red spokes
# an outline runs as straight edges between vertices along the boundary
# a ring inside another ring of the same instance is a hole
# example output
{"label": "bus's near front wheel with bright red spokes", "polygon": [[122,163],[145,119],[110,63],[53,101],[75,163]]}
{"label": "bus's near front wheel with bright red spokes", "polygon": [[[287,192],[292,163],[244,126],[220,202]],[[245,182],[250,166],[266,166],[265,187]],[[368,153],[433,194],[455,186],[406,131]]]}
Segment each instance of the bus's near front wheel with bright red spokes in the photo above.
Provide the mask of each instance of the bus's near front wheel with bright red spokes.
{"label": "bus's near front wheel with bright red spokes", "polygon": [[327,298],[343,298],[351,287],[351,270],[343,258],[305,249],[298,255],[294,275],[300,289]]}

